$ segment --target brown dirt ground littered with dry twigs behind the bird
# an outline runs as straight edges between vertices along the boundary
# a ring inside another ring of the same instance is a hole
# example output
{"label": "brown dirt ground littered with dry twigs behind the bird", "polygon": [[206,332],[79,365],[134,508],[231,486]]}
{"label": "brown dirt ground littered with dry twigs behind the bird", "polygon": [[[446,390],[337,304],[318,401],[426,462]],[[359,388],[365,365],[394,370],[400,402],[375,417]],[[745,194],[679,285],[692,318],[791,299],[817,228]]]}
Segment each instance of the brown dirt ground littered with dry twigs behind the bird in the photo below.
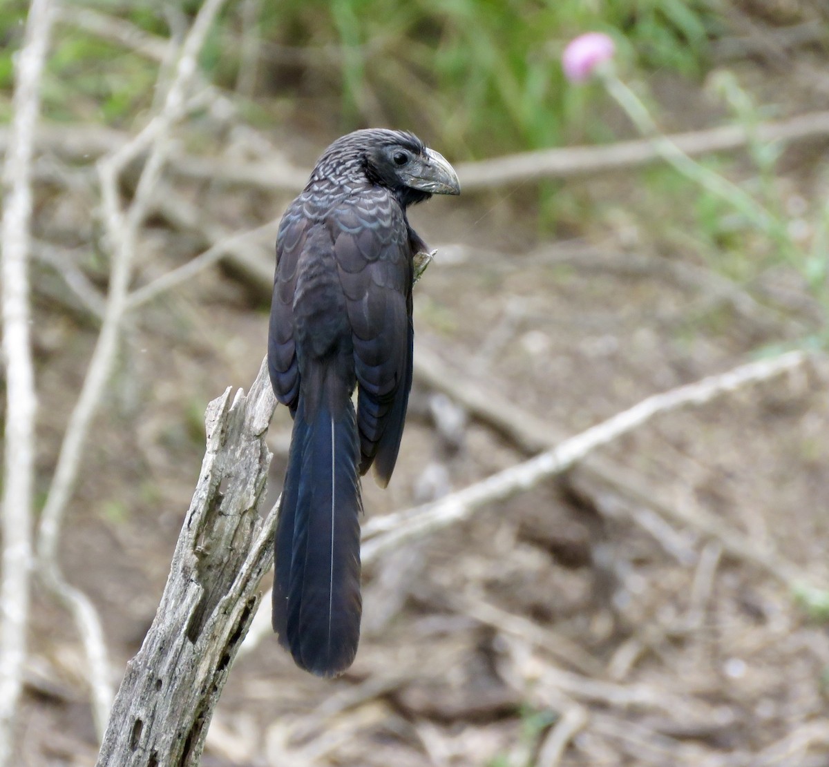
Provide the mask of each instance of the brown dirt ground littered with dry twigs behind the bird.
{"label": "brown dirt ground littered with dry twigs behind the bird", "polygon": [[[313,162],[317,138],[295,145],[299,164]],[[793,183],[812,183],[804,169],[826,148],[797,155]],[[624,200],[631,177],[578,183]],[[763,286],[724,290],[705,264],[647,237],[539,239],[521,213],[525,193],[413,211],[439,248],[416,288],[415,354],[450,374],[439,388],[415,380],[395,477],[385,491],[364,485],[367,519],[537,451],[531,435],[507,438],[492,413],[463,412],[453,391],[482,388],[502,417],[522,414],[555,442],[802,337],[803,312],[759,301]],[[231,228],[261,224],[287,199],[221,183],[176,194]],[[90,204],[47,190],[38,236],[71,242],[73,227],[94,226]],[[136,284],[201,249],[192,229],[163,215],[152,224]],[[256,253],[267,262],[267,248]],[[808,308],[787,273],[766,278]],[[47,273],[36,289],[45,478],[95,332]],[[259,369],[266,293],[225,264],[128,326],[61,546],[118,669],[161,595],[206,404],[227,386],[247,388]],[[560,480],[386,554],[364,573],[351,670],[312,678],[263,639],[230,674],[203,764],[829,765],[829,631],[793,594],[801,576],[829,583],[827,417],[829,365],[817,356],[657,417]],[[289,430],[280,408],[269,435],[274,498]],[[20,764],[92,765],[73,626],[42,593],[33,620]]]}

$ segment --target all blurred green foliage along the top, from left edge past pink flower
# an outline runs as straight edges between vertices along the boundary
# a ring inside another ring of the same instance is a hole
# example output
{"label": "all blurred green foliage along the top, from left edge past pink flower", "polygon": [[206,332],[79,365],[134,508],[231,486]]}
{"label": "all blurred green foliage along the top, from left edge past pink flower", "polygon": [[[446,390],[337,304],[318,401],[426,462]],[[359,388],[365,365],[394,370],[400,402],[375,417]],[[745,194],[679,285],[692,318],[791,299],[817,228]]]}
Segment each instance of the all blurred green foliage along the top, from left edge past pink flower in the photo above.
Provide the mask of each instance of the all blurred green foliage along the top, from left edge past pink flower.
{"label": "all blurred green foliage along the top, from left edge past pink flower", "polygon": [[[718,30],[715,0],[285,0],[263,3],[256,30],[268,46],[260,84],[298,96],[340,101],[343,130],[366,123],[439,134],[454,157],[607,140],[594,119],[601,89],[572,88],[560,70],[570,38],[607,31],[620,55],[642,72],[697,75]],[[80,3],[166,38],[196,2],[164,9],[148,0]],[[241,3],[230,3],[201,55],[220,84],[232,87],[240,65]],[[0,91],[12,84],[12,51],[22,36],[26,3],[0,9]],[[153,98],[158,63],[117,41],[61,21],[46,80],[51,119],[98,118],[123,124]],[[303,51],[291,60],[290,51]],[[296,63],[296,62],[299,63]]]}

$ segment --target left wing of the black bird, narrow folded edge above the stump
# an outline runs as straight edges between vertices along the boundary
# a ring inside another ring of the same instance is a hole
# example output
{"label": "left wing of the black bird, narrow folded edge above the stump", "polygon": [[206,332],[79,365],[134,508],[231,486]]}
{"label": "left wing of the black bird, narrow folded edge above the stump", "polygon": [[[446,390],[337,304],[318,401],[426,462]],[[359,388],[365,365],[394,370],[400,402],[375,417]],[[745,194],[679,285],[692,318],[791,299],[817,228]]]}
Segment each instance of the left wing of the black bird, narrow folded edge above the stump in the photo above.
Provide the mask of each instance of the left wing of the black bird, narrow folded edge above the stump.
{"label": "left wing of the black bird, narrow folded edge above the stump", "polygon": [[294,412],[299,396],[299,369],[293,337],[293,292],[297,284],[299,256],[303,252],[311,219],[305,200],[294,200],[276,239],[276,275],[268,330],[268,370],[276,398]]}

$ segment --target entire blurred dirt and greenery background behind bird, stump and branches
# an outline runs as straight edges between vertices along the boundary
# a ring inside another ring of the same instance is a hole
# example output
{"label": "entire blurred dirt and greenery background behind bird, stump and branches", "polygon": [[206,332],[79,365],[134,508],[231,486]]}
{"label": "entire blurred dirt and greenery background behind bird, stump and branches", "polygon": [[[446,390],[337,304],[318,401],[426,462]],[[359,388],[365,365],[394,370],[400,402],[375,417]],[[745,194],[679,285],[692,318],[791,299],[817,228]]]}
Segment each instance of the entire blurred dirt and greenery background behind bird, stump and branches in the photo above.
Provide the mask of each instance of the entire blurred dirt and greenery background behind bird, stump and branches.
{"label": "entire blurred dirt and greenery background behind bird, stump and branches", "polygon": [[[198,7],[59,9],[34,186],[41,505],[109,279],[95,163],[158,112]],[[26,12],[0,5],[3,123]],[[641,138],[628,115],[598,81],[562,74],[564,46],[589,30],[613,38],[619,77],[662,132],[699,132],[698,161],[750,195],[774,237],[619,143]],[[230,674],[203,764],[829,764],[829,607],[796,588],[829,581],[826,2],[231,0],[199,63],[131,288],[208,248],[218,258],[126,316],[61,537],[114,679],[153,620],[206,405],[247,388],[264,355],[265,224],[334,138],[405,128],[469,183],[410,214],[438,254],[415,288],[400,461],[388,490],[364,483],[366,519],[652,393],[787,349],[815,355],[385,554],[364,572],[351,670],[312,678],[264,636]],[[705,151],[715,128],[744,138]],[[545,149],[564,170],[528,175],[512,157]],[[122,176],[125,204],[142,162]],[[289,436],[279,408],[272,499]],[[43,591],[29,649],[19,764],[94,764],[85,657]]]}

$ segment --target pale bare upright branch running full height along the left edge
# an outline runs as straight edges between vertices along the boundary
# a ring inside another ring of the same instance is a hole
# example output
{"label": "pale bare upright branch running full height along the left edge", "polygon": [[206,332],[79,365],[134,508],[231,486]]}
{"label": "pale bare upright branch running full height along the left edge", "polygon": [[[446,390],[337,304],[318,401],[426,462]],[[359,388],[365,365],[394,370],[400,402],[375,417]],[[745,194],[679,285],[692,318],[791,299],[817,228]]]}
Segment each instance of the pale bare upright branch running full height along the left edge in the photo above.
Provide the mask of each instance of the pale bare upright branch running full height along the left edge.
{"label": "pale bare upright branch running full height along the left edge", "polygon": [[5,461],[0,583],[0,765],[9,764],[26,658],[32,566],[32,485],[36,393],[29,333],[32,155],[41,109],[41,75],[54,17],[50,0],[32,0],[17,59],[14,116],[3,167],[3,363],[6,368]]}

